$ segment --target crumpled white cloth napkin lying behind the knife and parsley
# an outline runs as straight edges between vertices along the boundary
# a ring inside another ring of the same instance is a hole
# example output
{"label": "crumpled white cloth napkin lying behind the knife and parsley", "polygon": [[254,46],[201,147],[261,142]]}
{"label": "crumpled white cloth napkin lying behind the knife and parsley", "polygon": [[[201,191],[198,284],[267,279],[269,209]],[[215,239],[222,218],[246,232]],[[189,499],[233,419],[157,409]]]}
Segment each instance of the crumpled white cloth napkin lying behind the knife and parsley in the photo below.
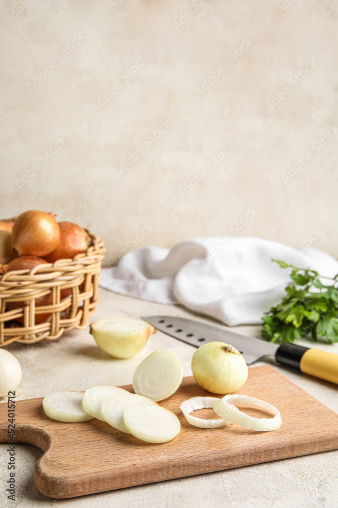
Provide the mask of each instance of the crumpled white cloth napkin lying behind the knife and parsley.
{"label": "crumpled white cloth napkin lying behind the knife and parsley", "polygon": [[186,240],[171,249],[147,246],[128,252],[116,267],[101,270],[100,286],[160,303],[180,303],[228,326],[260,324],[260,317],[284,295],[291,269],[333,277],[338,262],[312,247],[296,250],[253,237]]}

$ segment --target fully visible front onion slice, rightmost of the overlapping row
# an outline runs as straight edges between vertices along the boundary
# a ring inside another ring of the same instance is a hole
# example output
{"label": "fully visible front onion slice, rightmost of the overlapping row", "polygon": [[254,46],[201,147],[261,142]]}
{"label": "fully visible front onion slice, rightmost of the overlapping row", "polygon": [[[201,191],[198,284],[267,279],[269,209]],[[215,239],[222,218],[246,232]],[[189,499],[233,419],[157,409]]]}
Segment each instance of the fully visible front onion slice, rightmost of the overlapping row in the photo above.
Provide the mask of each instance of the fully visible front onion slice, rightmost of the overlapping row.
{"label": "fully visible front onion slice, rightmost of the overlapping row", "polygon": [[181,424],[177,416],[159,405],[137,404],[124,411],[129,432],[148,443],[165,443],[177,436]]}

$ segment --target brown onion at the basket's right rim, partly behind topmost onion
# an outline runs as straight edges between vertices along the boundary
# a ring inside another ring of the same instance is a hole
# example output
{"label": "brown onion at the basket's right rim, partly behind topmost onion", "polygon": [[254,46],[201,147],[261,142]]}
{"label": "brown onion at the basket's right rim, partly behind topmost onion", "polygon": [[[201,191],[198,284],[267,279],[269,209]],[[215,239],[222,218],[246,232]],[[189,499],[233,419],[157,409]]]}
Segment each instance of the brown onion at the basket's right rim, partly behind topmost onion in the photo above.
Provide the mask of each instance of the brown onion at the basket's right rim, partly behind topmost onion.
{"label": "brown onion at the basket's right rim, partly behind topmost onion", "polygon": [[44,256],[48,263],[54,263],[58,259],[73,259],[77,254],[86,252],[91,238],[78,224],[68,221],[58,223],[60,228],[60,240],[56,248],[48,256]]}

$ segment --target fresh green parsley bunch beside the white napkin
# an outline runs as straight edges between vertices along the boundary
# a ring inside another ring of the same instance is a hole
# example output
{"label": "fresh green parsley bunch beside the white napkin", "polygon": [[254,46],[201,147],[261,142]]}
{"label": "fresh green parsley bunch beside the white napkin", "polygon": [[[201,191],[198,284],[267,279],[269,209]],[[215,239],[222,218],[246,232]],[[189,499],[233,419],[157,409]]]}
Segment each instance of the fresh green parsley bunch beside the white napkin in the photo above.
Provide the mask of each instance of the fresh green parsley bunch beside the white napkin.
{"label": "fresh green parsley bunch beside the white napkin", "polygon": [[[286,295],[276,307],[271,307],[261,318],[264,321],[262,336],[271,342],[293,342],[294,339],[318,336],[338,342],[338,274],[334,278],[323,277],[315,270],[306,270],[276,261],[281,268],[292,268],[294,283],[286,288]],[[299,273],[301,272],[301,273]],[[332,285],[323,285],[320,279],[329,279]],[[312,292],[317,288],[320,291]]]}

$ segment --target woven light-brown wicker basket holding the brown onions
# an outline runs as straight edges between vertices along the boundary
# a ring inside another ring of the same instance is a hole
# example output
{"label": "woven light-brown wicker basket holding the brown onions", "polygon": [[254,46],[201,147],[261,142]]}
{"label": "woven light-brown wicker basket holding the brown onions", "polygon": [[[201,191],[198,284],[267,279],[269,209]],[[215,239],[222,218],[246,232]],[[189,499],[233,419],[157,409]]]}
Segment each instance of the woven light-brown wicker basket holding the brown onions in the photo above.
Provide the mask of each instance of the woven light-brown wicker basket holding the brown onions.
{"label": "woven light-brown wicker basket holding the brown onions", "polygon": [[[0,347],[11,342],[31,344],[57,339],[65,330],[88,325],[89,314],[99,302],[99,271],[105,248],[86,231],[92,238],[86,253],[0,276]],[[61,290],[66,289],[70,294],[61,300]],[[48,294],[52,303],[35,307],[35,300]],[[10,302],[22,302],[22,306],[9,310]],[[46,313],[50,316],[35,324],[35,315]],[[22,324],[15,321],[18,319]]]}

